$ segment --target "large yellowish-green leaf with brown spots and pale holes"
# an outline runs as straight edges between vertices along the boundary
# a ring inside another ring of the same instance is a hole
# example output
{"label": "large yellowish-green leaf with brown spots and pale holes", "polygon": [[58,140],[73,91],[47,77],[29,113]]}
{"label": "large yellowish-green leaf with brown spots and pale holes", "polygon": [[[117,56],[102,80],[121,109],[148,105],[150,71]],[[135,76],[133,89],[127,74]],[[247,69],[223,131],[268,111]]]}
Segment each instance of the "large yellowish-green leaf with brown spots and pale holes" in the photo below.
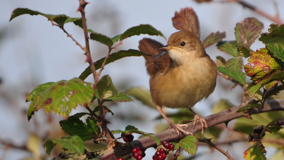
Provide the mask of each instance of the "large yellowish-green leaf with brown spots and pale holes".
{"label": "large yellowish-green leaf with brown spots and pale holes", "polygon": [[67,118],[72,109],[78,105],[90,103],[96,90],[91,83],[79,78],[61,80],[54,83],[34,101],[36,109],[43,109],[46,113],[54,112]]}

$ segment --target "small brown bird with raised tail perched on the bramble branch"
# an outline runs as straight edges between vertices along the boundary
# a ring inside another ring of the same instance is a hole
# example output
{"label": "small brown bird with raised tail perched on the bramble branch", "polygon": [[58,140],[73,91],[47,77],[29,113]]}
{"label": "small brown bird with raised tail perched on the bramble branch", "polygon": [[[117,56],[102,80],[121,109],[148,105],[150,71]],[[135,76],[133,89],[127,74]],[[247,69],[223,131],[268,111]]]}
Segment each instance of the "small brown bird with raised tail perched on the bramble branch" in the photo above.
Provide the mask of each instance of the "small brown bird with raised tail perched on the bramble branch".
{"label": "small brown bird with raised tail perched on the bramble branch", "polygon": [[170,36],[165,46],[156,40],[143,38],[139,41],[138,48],[151,55],[144,58],[150,75],[152,100],[158,111],[177,132],[186,132],[181,128],[184,125],[172,124],[162,107],[187,107],[195,115],[194,125],[197,120],[201,122],[203,135],[204,126],[207,128],[206,121],[191,107],[214,91],[217,69],[200,39],[192,32],[179,31]]}

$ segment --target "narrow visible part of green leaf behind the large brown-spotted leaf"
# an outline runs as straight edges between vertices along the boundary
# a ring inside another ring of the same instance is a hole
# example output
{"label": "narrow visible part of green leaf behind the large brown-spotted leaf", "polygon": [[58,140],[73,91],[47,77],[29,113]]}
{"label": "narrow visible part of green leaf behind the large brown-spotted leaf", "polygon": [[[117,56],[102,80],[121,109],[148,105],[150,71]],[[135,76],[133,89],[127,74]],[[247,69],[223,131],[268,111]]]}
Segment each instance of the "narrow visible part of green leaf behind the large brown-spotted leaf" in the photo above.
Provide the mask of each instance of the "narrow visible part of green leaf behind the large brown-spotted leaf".
{"label": "narrow visible part of green leaf behind the large brown-spotted leaf", "polygon": [[[30,92],[30,94],[26,98],[26,102],[34,100],[38,95],[42,94],[42,92],[44,92],[46,89],[48,89],[54,83],[55,82],[48,82],[48,83],[44,83],[44,84],[41,84],[39,86],[36,86],[36,88],[33,89],[33,91]],[[32,101],[32,103],[30,103],[30,106],[29,106],[29,109],[28,109],[28,121],[30,121],[34,112],[37,111],[37,109],[34,107],[34,103],[35,103],[35,101]]]}

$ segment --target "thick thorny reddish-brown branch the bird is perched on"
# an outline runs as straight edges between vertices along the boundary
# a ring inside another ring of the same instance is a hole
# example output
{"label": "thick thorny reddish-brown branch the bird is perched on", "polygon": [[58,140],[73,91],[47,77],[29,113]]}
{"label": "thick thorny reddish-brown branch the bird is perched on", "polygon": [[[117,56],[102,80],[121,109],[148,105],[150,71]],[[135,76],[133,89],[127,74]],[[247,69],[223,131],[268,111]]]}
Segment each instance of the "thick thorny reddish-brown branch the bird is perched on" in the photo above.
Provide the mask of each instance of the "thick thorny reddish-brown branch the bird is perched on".
{"label": "thick thorny reddish-brown branch the bird is perched on", "polygon": [[[284,99],[278,100],[266,100],[263,109],[262,108],[253,108],[248,113],[240,112],[237,113],[236,111],[241,108],[242,106],[246,106],[248,104],[256,103],[256,100],[250,100],[246,103],[242,103],[239,106],[235,106],[233,108],[227,109],[222,112],[218,112],[212,115],[208,115],[204,117],[205,121],[207,122],[208,127],[215,126],[217,124],[229,122],[233,119],[240,118],[240,117],[250,117],[250,115],[264,113],[264,112],[271,112],[271,111],[283,111],[284,110]],[[193,122],[188,123],[189,127],[184,127],[185,131],[191,132],[195,134],[196,132],[201,131],[200,122],[196,122],[196,126],[193,127]],[[181,139],[185,137],[184,134],[177,134],[175,129],[167,129],[163,132],[159,132],[153,134],[152,136],[159,138],[161,141],[173,141],[175,139]],[[139,138],[138,140],[132,141],[134,147],[140,146],[144,150],[150,147],[157,147],[157,144],[154,140],[150,137],[143,137]],[[118,157],[127,155],[132,152],[132,146],[130,145],[116,145],[114,148],[106,151],[102,155],[96,157],[97,159],[102,160],[110,160],[110,159],[117,159]]]}

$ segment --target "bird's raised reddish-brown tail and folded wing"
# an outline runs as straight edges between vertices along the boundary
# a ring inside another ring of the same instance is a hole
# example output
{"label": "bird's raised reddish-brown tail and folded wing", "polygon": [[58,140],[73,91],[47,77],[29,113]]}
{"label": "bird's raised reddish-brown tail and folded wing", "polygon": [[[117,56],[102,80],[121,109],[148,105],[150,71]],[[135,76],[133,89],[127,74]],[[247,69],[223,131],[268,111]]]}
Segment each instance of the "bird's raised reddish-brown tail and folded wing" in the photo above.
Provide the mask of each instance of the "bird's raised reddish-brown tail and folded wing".
{"label": "bird's raised reddish-brown tail and folded wing", "polygon": [[146,60],[147,72],[151,75],[157,71],[165,72],[170,66],[170,56],[167,50],[160,49],[164,45],[151,38],[143,38],[139,41],[139,50],[149,56],[143,56]]}

